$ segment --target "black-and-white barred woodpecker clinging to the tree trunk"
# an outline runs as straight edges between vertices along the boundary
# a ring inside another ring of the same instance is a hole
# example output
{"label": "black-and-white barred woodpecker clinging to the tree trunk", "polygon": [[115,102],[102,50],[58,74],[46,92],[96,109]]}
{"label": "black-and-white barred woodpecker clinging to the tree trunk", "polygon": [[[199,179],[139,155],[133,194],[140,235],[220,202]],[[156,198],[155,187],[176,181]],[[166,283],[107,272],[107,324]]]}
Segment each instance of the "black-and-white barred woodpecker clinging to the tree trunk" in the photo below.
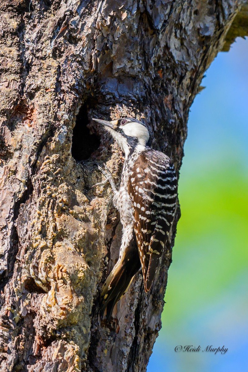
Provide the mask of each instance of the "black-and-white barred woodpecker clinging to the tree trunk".
{"label": "black-and-white barred woodpecker clinging to the tree trunk", "polygon": [[139,120],[93,120],[103,125],[125,154],[119,190],[112,174],[99,167],[113,189],[123,226],[119,259],[101,290],[100,318],[107,308],[109,320],[140,266],[145,292],[152,286],[175,214],[177,174],[167,155],[149,147],[149,131]]}

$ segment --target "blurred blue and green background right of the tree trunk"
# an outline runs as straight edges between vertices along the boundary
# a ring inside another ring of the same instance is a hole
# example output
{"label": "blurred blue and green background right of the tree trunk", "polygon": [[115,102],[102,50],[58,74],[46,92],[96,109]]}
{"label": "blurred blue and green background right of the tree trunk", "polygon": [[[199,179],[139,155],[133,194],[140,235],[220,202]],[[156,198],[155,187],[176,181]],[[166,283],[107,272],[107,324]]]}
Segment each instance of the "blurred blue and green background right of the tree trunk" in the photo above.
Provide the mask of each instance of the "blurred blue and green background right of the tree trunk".
{"label": "blurred blue and green background right of the tree trunk", "polygon": [[[212,62],[179,179],[182,217],[147,372],[248,371],[248,41]],[[225,355],[177,345],[228,347]]]}

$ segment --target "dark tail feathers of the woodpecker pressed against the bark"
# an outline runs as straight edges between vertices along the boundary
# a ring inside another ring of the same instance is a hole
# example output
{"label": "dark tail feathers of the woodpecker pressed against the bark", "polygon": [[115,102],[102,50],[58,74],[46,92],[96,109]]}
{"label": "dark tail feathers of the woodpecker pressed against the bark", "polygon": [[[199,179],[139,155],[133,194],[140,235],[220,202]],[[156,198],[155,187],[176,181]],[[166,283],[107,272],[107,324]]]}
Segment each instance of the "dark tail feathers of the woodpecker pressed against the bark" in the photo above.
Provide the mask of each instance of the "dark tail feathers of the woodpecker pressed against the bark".
{"label": "dark tail feathers of the woodpecker pressed against the bark", "polygon": [[133,240],[130,242],[130,246],[128,250],[125,251],[123,257],[117,261],[102,286],[99,313],[101,319],[107,308],[106,318],[110,320],[114,305],[127,292],[134,275],[139,269],[140,258],[136,242]]}

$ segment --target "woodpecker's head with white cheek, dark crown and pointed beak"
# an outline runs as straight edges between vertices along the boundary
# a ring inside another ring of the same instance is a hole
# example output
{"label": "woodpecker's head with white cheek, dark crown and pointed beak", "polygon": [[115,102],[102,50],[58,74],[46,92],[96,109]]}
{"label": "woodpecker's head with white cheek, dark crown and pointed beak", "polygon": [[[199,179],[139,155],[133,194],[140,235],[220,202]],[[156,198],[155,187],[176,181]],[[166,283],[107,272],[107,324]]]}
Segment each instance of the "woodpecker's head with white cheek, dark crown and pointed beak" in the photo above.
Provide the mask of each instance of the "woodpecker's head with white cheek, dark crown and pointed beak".
{"label": "woodpecker's head with white cheek, dark crown and pointed beak", "polygon": [[113,121],[93,119],[102,124],[104,128],[117,141],[121,150],[128,155],[135,148],[144,150],[149,142],[149,131],[141,121],[133,118],[122,118]]}

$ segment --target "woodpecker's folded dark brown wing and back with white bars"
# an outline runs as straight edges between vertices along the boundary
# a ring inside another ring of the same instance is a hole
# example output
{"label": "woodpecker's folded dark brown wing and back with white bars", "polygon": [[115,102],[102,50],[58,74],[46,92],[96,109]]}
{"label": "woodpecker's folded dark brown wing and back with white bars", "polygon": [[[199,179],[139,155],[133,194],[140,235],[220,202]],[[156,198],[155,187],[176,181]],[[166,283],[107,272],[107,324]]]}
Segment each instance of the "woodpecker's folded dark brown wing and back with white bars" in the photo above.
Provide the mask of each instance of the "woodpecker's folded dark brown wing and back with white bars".
{"label": "woodpecker's folded dark brown wing and back with white bars", "polygon": [[151,288],[168,239],[177,202],[177,175],[171,160],[146,150],[131,170],[128,191],[133,200],[134,232],[144,289]]}

